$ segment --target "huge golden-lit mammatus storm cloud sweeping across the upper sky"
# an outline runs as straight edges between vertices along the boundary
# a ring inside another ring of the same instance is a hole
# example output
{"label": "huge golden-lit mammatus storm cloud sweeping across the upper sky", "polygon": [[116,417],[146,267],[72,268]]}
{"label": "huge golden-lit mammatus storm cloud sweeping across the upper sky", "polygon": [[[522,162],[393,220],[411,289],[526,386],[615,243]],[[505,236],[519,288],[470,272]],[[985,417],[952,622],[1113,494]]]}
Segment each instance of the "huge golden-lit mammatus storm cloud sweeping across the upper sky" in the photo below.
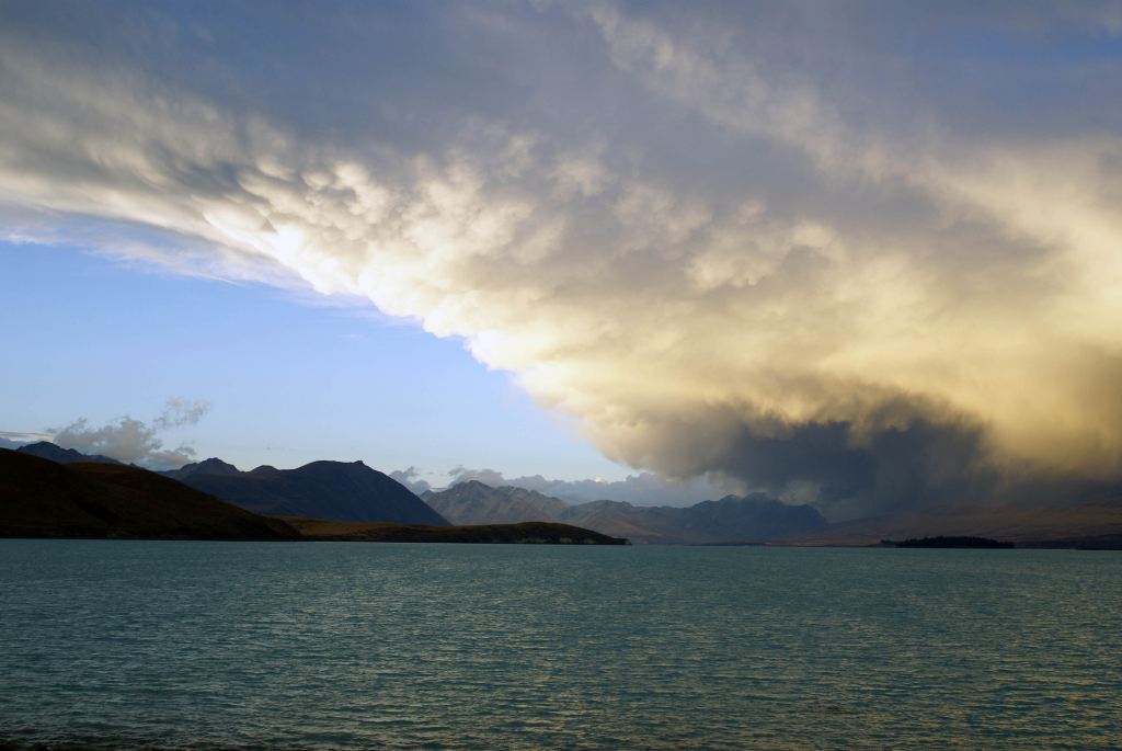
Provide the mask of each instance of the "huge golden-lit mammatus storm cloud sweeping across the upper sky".
{"label": "huge golden-lit mammatus storm cloud sweeping across the upper sky", "polygon": [[1122,62],[1048,46],[1113,16],[987,10],[971,34],[1033,62],[972,48],[967,76],[953,12],[443,13],[453,91],[341,52],[273,98],[186,22],[83,45],[16,18],[0,203],[25,233],[144,226],[167,240],[125,253],[465,337],[671,478],[838,516],[1122,480]]}

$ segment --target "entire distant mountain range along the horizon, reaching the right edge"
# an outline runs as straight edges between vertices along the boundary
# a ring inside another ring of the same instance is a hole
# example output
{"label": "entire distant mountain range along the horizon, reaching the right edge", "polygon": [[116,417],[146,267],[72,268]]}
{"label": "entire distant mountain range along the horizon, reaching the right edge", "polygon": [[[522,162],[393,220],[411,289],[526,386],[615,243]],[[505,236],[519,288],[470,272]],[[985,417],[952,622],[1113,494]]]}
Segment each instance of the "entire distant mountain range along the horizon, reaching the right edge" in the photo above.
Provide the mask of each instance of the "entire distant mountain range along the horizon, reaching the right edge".
{"label": "entire distant mountain range along the horizon, reaching the right edge", "polygon": [[[89,457],[46,441],[17,452],[63,465],[126,468],[109,457]],[[83,471],[89,474],[89,469]],[[220,459],[206,459],[162,474],[258,514],[327,522],[427,526],[550,522],[650,543],[859,546],[908,538],[984,537],[1018,544],[1122,547],[1122,496],[1056,505],[959,504],[829,524],[812,506],[789,505],[764,495],[730,495],[688,507],[620,501],[569,504],[535,491],[469,480],[419,497],[361,461],[241,471]]]}

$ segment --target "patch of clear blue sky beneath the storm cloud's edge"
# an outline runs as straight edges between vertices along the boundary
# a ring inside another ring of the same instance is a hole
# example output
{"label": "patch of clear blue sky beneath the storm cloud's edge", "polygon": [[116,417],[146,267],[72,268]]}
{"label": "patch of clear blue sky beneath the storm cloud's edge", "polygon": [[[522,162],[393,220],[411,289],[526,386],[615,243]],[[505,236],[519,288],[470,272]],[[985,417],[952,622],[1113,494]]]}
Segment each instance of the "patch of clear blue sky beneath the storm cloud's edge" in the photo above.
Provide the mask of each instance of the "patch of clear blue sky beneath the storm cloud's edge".
{"label": "patch of clear blue sky beneath the storm cloud's edge", "polygon": [[199,458],[242,468],[362,459],[386,471],[415,466],[438,484],[459,465],[624,474],[460,340],[353,300],[178,276],[66,246],[0,244],[0,269],[6,431],[147,420],[178,396],[211,410],[164,432],[165,445],[186,441]]}

